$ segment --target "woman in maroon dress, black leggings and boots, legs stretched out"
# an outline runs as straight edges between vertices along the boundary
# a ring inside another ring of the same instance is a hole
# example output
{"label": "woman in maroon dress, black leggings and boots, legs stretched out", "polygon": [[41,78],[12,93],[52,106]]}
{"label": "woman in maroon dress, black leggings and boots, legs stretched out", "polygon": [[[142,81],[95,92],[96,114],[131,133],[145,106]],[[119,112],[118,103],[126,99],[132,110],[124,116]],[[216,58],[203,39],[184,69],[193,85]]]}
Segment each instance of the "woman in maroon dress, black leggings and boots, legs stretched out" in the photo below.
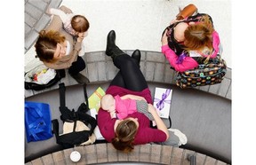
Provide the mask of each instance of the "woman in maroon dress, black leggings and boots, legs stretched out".
{"label": "woman in maroon dress, black leggings and boots, legs stretched out", "polygon": [[[132,57],[116,46],[116,33],[108,33],[106,54],[111,56],[114,65],[120,69],[110,83],[106,94],[116,95],[135,100],[146,100],[152,105],[151,92],[148,83],[140,71],[140,51],[134,51]],[[128,114],[124,120],[111,118],[108,111],[100,108],[98,126],[100,133],[111,142],[117,150],[131,152],[134,145],[149,142],[164,142],[169,138],[169,132],[162,119],[156,113],[154,106],[148,108],[153,115],[156,128],[150,127],[148,117],[139,112]]]}

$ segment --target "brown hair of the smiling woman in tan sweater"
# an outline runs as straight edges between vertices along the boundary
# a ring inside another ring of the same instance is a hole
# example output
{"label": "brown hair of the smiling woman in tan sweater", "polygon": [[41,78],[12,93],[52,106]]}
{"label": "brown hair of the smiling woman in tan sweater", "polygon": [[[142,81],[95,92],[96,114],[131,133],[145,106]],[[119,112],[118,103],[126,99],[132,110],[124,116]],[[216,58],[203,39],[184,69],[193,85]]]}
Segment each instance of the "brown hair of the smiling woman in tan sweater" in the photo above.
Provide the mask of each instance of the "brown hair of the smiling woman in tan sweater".
{"label": "brown hair of the smiling woman in tan sweater", "polygon": [[39,37],[36,41],[36,56],[45,62],[54,62],[54,52],[57,48],[57,43],[63,43],[65,41],[65,36],[60,35],[58,31],[46,32],[42,30],[39,32]]}

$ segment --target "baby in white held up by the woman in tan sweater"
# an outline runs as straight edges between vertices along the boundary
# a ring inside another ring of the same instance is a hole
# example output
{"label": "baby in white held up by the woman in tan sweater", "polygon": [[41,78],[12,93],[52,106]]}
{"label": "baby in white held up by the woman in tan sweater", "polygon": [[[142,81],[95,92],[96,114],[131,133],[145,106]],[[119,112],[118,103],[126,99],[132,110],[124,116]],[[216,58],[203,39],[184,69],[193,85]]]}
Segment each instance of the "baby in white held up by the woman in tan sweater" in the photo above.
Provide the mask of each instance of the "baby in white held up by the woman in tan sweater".
{"label": "baby in white held up by the woman in tan sweater", "polygon": [[[68,12],[68,13],[65,13]],[[48,14],[60,16],[60,20],[63,23],[63,29],[67,31],[69,35],[73,35],[74,38],[78,36],[84,38],[85,33],[90,27],[89,21],[83,15],[76,15],[66,6],[61,6],[60,9],[50,8],[47,10]],[[84,55],[84,44],[82,44],[82,49],[79,51],[79,56]]]}

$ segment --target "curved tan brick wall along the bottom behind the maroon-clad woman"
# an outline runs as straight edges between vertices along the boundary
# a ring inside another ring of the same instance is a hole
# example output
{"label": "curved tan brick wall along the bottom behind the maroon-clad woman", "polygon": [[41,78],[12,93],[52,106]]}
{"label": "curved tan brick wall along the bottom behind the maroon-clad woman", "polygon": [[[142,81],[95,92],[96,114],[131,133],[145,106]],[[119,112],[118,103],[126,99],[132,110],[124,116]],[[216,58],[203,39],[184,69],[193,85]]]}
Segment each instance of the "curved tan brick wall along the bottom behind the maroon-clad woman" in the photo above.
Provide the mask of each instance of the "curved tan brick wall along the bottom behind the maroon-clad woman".
{"label": "curved tan brick wall along the bottom behind the maroon-clad woman", "polygon": [[[81,153],[78,162],[70,160],[69,155],[73,151]],[[170,145],[135,145],[132,153],[118,152],[110,143],[78,146],[60,152],[47,154],[36,160],[29,161],[26,165],[49,164],[99,164],[107,162],[140,162],[153,164],[189,165],[189,157],[196,156],[196,164],[201,165],[227,165],[219,161],[191,150],[172,147]]]}

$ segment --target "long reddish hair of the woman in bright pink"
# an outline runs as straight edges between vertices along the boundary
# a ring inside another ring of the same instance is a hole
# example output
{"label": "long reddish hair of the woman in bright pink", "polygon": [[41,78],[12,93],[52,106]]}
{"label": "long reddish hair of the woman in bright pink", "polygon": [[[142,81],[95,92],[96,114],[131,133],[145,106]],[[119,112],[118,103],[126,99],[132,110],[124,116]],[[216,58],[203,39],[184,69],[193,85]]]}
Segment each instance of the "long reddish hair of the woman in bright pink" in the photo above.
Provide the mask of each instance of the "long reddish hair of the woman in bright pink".
{"label": "long reddish hair of the woman in bright pink", "polygon": [[202,18],[196,22],[196,24],[189,25],[184,32],[185,41],[184,44],[187,47],[187,51],[202,51],[207,47],[212,51],[212,32],[214,28],[212,21],[208,15],[202,16]]}

